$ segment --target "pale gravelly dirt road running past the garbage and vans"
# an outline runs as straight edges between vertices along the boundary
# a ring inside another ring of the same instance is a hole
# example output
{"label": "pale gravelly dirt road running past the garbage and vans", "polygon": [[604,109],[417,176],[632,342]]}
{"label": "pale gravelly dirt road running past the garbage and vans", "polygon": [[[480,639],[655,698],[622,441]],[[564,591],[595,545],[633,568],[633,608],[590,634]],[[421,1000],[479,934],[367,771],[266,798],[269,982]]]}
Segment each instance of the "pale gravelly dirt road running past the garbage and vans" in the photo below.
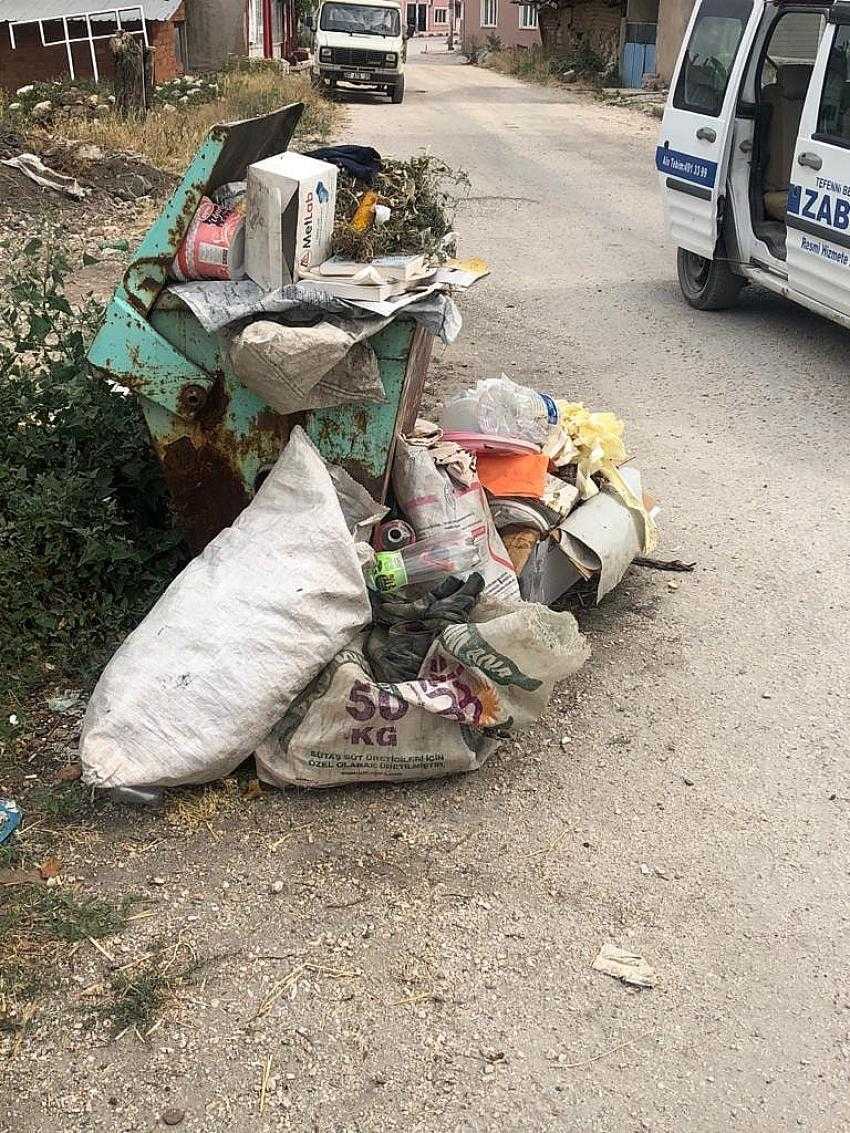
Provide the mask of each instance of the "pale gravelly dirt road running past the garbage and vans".
{"label": "pale gravelly dirt road running past the garbage and vans", "polygon": [[[848,335],[682,305],[656,127],[431,51],[346,137],[473,178],[493,275],[437,387],[617,410],[697,571],[584,615],[587,668],[475,776],[105,816],[75,871],[155,911],[116,959],[222,959],[147,1046],[34,1021],[17,1133],[850,1128]],[[592,971],[605,940],[657,986]]]}

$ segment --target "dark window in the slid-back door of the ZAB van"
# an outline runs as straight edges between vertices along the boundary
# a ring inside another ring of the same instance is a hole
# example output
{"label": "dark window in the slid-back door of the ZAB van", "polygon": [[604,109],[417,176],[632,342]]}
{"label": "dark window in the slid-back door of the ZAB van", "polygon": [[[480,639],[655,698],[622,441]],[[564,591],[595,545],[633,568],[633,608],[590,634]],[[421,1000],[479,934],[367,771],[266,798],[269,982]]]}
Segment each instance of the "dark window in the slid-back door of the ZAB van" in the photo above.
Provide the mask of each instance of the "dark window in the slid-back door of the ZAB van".
{"label": "dark window in the slid-back door of the ZAB van", "polygon": [[717,118],[753,11],[753,0],[704,0],[675,85],[673,105]]}

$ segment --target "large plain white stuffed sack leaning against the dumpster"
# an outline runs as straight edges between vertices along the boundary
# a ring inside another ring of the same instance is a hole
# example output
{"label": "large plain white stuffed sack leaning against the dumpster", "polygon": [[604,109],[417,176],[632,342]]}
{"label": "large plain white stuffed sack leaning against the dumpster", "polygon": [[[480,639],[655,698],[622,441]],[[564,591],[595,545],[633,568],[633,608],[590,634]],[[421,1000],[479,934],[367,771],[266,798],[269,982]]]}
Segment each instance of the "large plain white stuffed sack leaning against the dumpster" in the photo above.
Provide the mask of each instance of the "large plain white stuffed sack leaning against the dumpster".
{"label": "large plain white stuffed sack leaning against the dumpster", "polygon": [[369,622],[364,550],[324,461],[294,429],[248,508],[104,670],[83,724],[85,782],[203,783],[238,766]]}

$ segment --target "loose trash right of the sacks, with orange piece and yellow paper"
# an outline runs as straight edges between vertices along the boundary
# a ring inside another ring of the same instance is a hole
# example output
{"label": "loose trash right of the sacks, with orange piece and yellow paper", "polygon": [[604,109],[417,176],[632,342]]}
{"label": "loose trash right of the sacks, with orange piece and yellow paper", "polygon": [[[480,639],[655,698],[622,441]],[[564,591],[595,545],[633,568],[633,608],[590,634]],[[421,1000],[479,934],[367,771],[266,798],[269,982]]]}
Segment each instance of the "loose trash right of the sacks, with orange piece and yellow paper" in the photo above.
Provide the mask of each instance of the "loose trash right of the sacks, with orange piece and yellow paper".
{"label": "loose trash right of the sacks, with orange piece and yellow paper", "polygon": [[440,425],[425,437],[475,454],[526,600],[551,605],[592,579],[600,600],[655,548],[656,508],[626,465],[624,426],[613,414],[502,375],[448,401]]}

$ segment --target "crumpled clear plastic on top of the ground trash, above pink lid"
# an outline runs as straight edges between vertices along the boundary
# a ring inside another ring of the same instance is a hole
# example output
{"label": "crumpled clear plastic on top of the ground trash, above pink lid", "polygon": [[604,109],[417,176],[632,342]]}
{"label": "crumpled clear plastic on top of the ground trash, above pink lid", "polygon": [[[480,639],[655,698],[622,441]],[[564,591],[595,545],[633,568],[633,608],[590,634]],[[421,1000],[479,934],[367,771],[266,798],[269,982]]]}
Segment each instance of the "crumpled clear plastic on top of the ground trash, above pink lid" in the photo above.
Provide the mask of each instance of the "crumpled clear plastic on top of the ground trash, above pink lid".
{"label": "crumpled clear plastic on top of the ground trash, above pink lid", "polygon": [[547,393],[488,377],[445,403],[440,424],[447,432],[477,432],[543,444],[558,424],[558,406]]}

